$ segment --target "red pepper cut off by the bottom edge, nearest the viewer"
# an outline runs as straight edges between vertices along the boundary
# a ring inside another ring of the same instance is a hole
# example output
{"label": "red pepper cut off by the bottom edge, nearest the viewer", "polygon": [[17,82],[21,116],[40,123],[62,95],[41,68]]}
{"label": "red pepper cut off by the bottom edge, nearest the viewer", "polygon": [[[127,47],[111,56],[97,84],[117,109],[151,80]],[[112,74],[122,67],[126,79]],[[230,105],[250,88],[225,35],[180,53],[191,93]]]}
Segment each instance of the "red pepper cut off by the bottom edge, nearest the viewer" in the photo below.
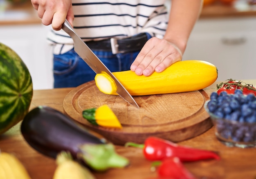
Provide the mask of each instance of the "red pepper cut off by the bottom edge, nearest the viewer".
{"label": "red pepper cut off by the bottom edge, nearest the viewer", "polygon": [[157,173],[160,179],[195,179],[178,157],[164,159],[157,168]]}

